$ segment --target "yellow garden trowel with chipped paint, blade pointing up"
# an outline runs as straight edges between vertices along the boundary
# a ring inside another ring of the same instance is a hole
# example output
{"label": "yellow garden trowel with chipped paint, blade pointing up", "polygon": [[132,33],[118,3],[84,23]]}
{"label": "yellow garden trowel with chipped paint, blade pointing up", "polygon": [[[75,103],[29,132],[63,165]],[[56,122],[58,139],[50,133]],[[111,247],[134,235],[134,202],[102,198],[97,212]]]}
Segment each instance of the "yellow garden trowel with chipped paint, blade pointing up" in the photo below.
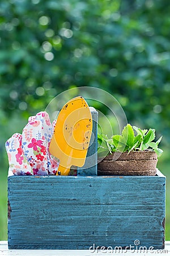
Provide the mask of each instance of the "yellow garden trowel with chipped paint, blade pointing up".
{"label": "yellow garden trowel with chipped paint, blade pointing up", "polygon": [[92,116],[82,96],[68,101],[60,110],[50,142],[50,154],[59,159],[56,175],[69,175],[72,165],[82,167],[92,133]]}

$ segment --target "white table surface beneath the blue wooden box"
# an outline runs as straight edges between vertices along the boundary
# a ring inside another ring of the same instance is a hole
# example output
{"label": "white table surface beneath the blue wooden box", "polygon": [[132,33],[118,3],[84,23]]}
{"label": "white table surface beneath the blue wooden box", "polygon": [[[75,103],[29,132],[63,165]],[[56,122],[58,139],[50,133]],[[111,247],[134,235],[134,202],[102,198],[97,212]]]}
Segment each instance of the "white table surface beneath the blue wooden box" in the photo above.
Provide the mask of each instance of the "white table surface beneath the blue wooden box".
{"label": "white table surface beneath the blue wooden box", "polygon": [[7,241],[0,241],[0,255],[10,255],[10,256],[60,256],[60,255],[80,255],[80,256],[93,256],[93,255],[167,255],[170,256],[170,241],[165,242],[165,249],[164,250],[153,250],[153,251],[145,251],[140,252],[138,251],[120,251],[120,253],[115,251],[95,251],[94,253],[90,250],[8,250]]}

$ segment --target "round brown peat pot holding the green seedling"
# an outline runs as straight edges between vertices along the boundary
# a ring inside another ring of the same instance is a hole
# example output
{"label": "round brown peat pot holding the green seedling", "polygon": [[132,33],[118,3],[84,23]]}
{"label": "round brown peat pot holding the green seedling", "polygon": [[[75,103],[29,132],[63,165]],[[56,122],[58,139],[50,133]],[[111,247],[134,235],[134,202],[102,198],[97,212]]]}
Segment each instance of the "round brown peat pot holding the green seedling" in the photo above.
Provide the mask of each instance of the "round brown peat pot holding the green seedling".
{"label": "round brown peat pot holding the green seedling", "polygon": [[155,176],[158,157],[154,151],[114,152],[98,160],[98,175]]}

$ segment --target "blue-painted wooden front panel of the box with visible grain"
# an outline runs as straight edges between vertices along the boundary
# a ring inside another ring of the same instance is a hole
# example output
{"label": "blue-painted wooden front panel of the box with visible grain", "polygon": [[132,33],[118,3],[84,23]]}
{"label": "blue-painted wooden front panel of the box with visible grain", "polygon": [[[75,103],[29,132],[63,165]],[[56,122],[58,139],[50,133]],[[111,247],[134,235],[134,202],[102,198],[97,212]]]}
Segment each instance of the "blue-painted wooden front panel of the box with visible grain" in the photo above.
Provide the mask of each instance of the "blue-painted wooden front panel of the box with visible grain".
{"label": "blue-painted wooden front panel of the box with visible grain", "polygon": [[10,176],[9,249],[164,247],[165,177]]}

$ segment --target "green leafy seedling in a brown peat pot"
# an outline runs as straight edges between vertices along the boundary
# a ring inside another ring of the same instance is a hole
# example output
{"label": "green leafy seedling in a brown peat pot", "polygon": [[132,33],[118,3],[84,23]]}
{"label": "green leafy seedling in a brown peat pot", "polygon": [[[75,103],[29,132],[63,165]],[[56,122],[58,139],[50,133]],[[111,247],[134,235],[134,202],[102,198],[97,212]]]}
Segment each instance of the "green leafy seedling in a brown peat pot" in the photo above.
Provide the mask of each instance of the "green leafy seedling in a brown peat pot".
{"label": "green leafy seedling in a brown peat pot", "polygon": [[[126,125],[121,135],[98,134],[98,175],[156,175],[163,150],[154,142],[155,129]],[[108,154],[109,153],[109,154]]]}

